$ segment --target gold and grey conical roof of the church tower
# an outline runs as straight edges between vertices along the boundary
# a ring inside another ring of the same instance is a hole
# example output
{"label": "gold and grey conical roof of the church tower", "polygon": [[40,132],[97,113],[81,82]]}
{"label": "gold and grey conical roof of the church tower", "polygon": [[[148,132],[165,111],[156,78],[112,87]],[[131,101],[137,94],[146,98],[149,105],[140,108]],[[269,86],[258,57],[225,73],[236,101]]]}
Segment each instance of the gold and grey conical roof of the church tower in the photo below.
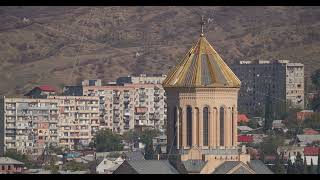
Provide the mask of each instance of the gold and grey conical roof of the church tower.
{"label": "gold and grey conical roof of the church tower", "polygon": [[240,80],[201,35],[163,82],[164,87],[240,87]]}

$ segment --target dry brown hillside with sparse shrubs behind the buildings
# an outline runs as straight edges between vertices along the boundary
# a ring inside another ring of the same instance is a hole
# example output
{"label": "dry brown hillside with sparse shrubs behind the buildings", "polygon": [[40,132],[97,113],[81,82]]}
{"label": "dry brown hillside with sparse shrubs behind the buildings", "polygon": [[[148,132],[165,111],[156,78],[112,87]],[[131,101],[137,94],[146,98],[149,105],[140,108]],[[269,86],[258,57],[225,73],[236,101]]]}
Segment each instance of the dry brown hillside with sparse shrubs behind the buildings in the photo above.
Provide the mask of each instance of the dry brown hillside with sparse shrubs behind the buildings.
{"label": "dry brown hillside with sparse shrubs behind the buildings", "polygon": [[166,73],[197,40],[197,13],[213,18],[205,34],[228,63],[320,67],[319,7],[0,7],[0,95]]}

